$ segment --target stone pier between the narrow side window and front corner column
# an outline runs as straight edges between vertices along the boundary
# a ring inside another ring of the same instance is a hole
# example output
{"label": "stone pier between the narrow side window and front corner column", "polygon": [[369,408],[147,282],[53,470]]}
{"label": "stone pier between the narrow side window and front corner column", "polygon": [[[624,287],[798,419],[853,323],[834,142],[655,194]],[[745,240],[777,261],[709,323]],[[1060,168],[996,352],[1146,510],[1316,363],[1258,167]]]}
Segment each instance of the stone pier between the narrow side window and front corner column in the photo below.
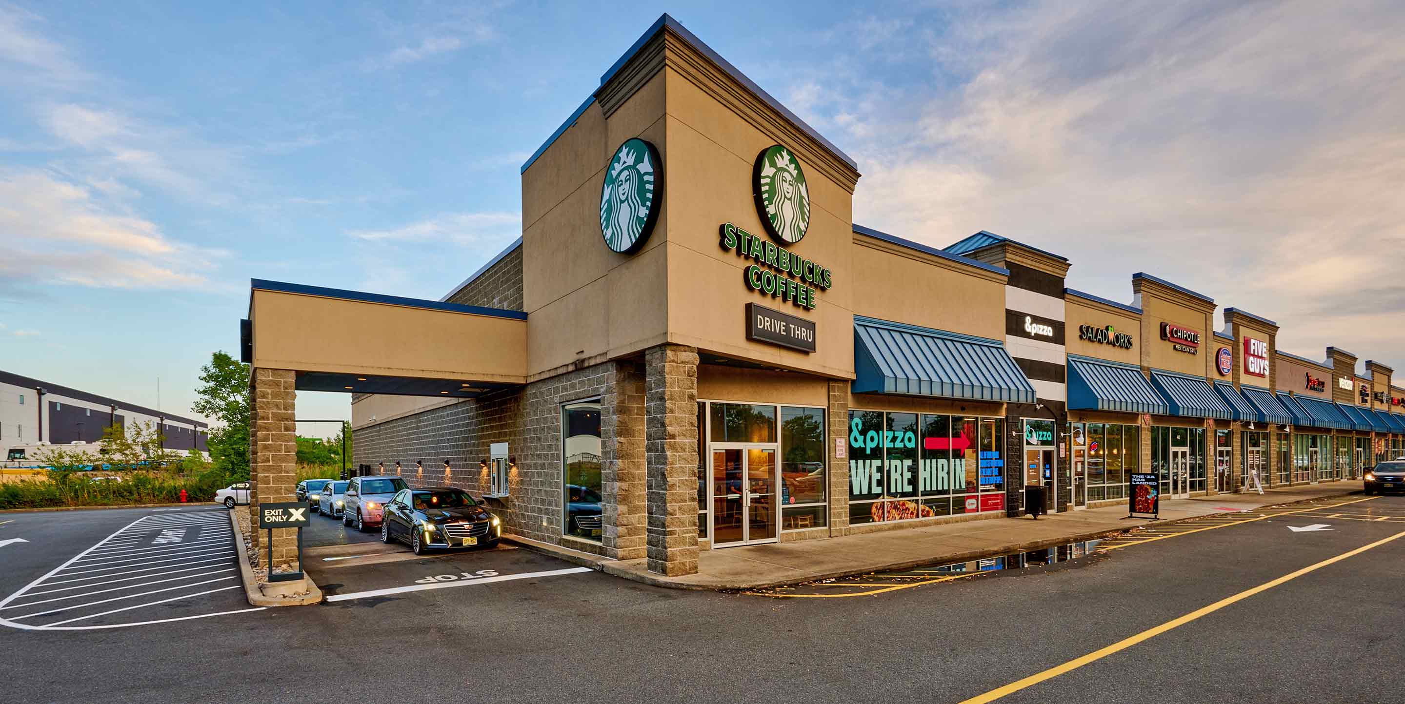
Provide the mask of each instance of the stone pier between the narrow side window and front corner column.
{"label": "stone pier between the narrow side window and front corner column", "polygon": [[638,364],[618,363],[600,398],[600,454],[604,461],[601,485],[606,499],[601,507],[603,542],[606,555],[615,559],[645,556],[648,511],[643,399],[643,371]]}

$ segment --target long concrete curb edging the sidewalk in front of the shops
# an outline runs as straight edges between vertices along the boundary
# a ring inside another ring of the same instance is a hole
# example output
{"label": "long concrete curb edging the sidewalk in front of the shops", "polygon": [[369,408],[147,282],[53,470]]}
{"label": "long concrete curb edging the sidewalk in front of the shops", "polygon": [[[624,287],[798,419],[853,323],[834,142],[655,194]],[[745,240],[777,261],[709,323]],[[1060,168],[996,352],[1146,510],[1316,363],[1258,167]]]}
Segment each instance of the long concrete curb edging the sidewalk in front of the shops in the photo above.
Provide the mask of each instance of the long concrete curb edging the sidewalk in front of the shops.
{"label": "long concrete curb edging the sidewalk in front of the shops", "polygon": [[[1259,509],[1266,509],[1269,506],[1291,506],[1291,504],[1295,504],[1295,503],[1315,502],[1315,500],[1319,500],[1319,499],[1333,499],[1333,497],[1339,497],[1339,496],[1350,496],[1352,493],[1354,493],[1354,490],[1346,490],[1346,492],[1340,492],[1340,493],[1329,493],[1329,495],[1324,495],[1324,496],[1314,496],[1311,499],[1298,499],[1298,500],[1291,500],[1291,502],[1266,503],[1263,506],[1259,506]],[[1250,509],[1250,510],[1255,510],[1255,509]],[[1162,520],[1156,521],[1155,524],[1158,527],[1159,526],[1170,526],[1170,524],[1175,524],[1175,523],[1182,523],[1182,521],[1189,521],[1189,520],[1203,519],[1203,517],[1204,516],[1186,516],[1184,519],[1162,519]],[[887,563],[882,563],[882,565],[865,565],[863,569],[837,569],[837,571],[832,571],[832,572],[826,572],[826,573],[806,575],[804,578],[777,579],[777,580],[773,580],[773,582],[756,582],[756,583],[747,583],[747,585],[684,585],[684,583],[673,582],[673,580],[670,580],[667,578],[655,576],[655,575],[648,573],[648,572],[642,572],[641,573],[641,572],[635,572],[635,571],[631,571],[631,569],[625,569],[618,562],[615,562],[615,561],[607,561],[606,558],[597,558],[594,562],[586,561],[586,559],[582,559],[582,558],[572,559],[572,556],[558,554],[554,549],[542,549],[540,545],[530,545],[527,542],[521,542],[521,544],[524,547],[535,549],[537,552],[545,552],[545,554],[552,555],[552,556],[558,556],[558,558],[562,558],[562,559],[566,559],[566,561],[570,561],[570,562],[576,562],[576,563],[580,563],[580,565],[584,565],[584,566],[589,566],[589,568],[599,569],[599,571],[601,571],[601,572],[604,572],[607,575],[614,575],[614,576],[618,576],[618,578],[628,579],[631,582],[639,582],[639,583],[649,585],[649,586],[665,587],[665,589],[681,589],[681,590],[688,590],[688,592],[746,592],[746,590],[753,590],[753,589],[770,589],[770,587],[780,587],[780,586],[804,585],[804,583],[809,583],[809,582],[823,582],[823,580],[828,580],[828,579],[840,579],[840,578],[847,578],[847,576],[853,576],[853,575],[863,575],[863,573],[867,573],[867,572],[903,571],[903,569],[919,568],[919,566],[923,566],[923,565],[932,565],[933,562],[937,562],[937,561],[940,561],[940,562],[969,562],[969,561],[974,561],[974,559],[989,558],[989,556],[995,556],[995,555],[1006,555],[1006,554],[1010,554],[1010,552],[1028,552],[1028,551],[1034,551],[1034,549],[1052,548],[1052,547],[1064,545],[1064,544],[1068,544],[1068,542],[1082,542],[1082,541],[1089,541],[1089,540],[1106,538],[1109,535],[1117,535],[1117,534],[1127,533],[1130,530],[1139,528],[1139,527],[1144,527],[1144,526],[1146,526],[1146,524],[1132,526],[1132,527],[1127,527],[1127,528],[1111,528],[1111,530],[1106,530],[1104,528],[1104,530],[1096,530],[1096,531],[1089,531],[1089,533],[1079,533],[1079,534],[1064,535],[1064,537],[1059,537],[1059,538],[1048,538],[1048,540],[1037,540],[1037,541],[1028,541],[1028,542],[1006,544],[1006,545],[1002,545],[1002,547],[998,547],[998,548],[984,548],[984,549],[972,549],[972,551],[965,551],[965,552],[951,552],[951,554],[932,556],[932,558],[903,559],[903,561],[898,561],[898,562],[887,562]],[[506,540],[507,535],[503,535],[503,538]],[[532,542],[535,542],[535,541],[532,541]],[[555,545],[551,545],[551,547],[555,548]],[[562,548],[558,548],[558,549],[562,549]]]}

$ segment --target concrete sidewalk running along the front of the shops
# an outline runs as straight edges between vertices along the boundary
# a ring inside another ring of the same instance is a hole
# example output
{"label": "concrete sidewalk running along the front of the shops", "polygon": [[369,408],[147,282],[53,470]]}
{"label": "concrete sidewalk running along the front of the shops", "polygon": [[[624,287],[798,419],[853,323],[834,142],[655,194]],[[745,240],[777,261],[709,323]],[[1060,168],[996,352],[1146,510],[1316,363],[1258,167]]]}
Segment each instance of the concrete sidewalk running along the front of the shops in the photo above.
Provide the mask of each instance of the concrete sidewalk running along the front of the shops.
{"label": "concrete sidewalk running along the front of the shops", "polygon": [[[1197,499],[1168,500],[1161,504],[1162,521],[1158,523],[1340,496],[1360,490],[1360,481],[1340,481],[1269,489],[1263,495],[1221,493]],[[1040,549],[1092,540],[1151,523],[1141,519],[1125,519],[1125,516],[1127,506],[1123,504],[1058,513],[1044,516],[1040,520],[1002,517],[839,538],[711,549],[701,551],[698,555],[697,575],[681,578],[653,575],[648,571],[643,559],[611,561],[537,541],[517,542],[554,555],[561,552],[558,556],[572,562],[655,586],[714,590],[760,589]]]}

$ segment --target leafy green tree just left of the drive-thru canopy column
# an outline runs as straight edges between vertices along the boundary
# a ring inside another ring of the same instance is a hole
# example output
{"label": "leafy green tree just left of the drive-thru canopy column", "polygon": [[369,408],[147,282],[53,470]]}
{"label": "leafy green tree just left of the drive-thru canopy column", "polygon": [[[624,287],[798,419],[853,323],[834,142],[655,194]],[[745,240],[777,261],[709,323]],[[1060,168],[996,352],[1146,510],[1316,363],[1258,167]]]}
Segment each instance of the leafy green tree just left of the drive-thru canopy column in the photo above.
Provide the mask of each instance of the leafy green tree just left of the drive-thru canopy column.
{"label": "leafy green tree just left of the drive-thru canopy column", "polygon": [[191,409],[215,422],[209,431],[209,458],[215,469],[235,479],[249,479],[249,365],[225,351],[201,367],[204,384]]}

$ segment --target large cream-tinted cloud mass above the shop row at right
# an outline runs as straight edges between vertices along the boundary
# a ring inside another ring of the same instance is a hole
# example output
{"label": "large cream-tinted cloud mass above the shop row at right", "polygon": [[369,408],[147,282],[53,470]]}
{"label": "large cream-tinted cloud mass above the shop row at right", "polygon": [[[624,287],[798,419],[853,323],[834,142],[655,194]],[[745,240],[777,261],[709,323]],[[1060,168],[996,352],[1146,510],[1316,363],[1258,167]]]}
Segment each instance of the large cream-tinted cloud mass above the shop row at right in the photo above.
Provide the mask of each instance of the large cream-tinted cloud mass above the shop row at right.
{"label": "large cream-tinted cloud mass above the shop row at right", "polygon": [[1099,295],[1130,299],[1148,271],[1279,320],[1284,348],[1405,363],[1398,3],[1037,0],[919,21],[941,28],[920,62],[842,48],[829,80],[795,79],[864,174],[857,222],[934,246],[989,229],[1068,256]]}

